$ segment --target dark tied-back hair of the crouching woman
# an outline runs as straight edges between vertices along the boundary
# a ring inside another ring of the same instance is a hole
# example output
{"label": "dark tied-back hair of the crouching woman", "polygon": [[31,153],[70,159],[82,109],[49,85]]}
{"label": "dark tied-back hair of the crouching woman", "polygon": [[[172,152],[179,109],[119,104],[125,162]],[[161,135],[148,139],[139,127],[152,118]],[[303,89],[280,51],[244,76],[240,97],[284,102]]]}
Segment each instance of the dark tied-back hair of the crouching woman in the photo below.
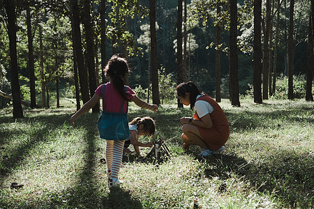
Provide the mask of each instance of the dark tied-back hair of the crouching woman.
{"label": "dark tied-back hair of the crouching woman", "polygon": [[186,98],[186,93],[190,93],[190,109],[193,109],[197,95],[201,94],[200,89],[193,82],[179,84],[176,91],[181,98]]}

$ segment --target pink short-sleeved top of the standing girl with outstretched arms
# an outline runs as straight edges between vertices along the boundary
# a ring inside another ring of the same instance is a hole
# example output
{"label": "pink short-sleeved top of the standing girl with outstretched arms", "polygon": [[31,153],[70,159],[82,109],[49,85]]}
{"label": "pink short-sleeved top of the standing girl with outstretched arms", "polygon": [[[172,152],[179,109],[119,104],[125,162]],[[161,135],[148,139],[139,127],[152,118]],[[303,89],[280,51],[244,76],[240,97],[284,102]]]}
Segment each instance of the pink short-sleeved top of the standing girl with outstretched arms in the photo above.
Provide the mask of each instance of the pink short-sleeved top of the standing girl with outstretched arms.
{"label": "pink short-sleeved top of the standing girl with outstretched arms", "polygon": [[[95,93],[99,95],[101,98],[103,95],[103,85],[106,85],[105,107],[103,107],[103,109],[105,109],[105,111],[120,112],[122,102],[124,101],[124,99],[121,97],[119,92],[114,88],[114,86],[110,82],[108,82],[107,84],[101,84],[100,86],[98,86]],[[126,93],[127,93],[126,97],[129,98],[130,100],[132,100],[135,96],[134,91],[128,86],[126,86]],[[126,113],[127,108],[128,108],[128,101],[125,101],[124,110],[123,110],[124,113]]]}

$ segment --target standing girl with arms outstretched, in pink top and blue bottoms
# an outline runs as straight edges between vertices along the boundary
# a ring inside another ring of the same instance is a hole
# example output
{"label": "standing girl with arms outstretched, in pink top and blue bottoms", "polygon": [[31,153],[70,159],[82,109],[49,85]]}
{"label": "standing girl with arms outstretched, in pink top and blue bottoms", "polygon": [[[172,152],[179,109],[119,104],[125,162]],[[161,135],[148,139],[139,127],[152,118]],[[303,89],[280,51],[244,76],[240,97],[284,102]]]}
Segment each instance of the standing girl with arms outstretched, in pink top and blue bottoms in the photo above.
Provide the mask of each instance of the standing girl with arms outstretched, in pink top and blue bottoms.
{"label": "standing girl with arms outstretched, in pink top and blue bottoms", "polygon": [[128,102],[133,101],[137,106],[155,112],[158,111],[158,106],[140,100],[129,86],[124,86],[124,80],[129,72],[126,59],[117,55],[112,56],[104,71],[110,82],[98,86],[93,97],[73,114],[70,122],[74,123],[79,116],[94,107],[99,102],[100,97],[103,97],[103,113],[98,121],[98,129],[100,138],[106,140],[107,176],[109,178],[109,187],[112,187],[121,183],[118,174],[122,161],[124,141],[130,137],[126,115]]}

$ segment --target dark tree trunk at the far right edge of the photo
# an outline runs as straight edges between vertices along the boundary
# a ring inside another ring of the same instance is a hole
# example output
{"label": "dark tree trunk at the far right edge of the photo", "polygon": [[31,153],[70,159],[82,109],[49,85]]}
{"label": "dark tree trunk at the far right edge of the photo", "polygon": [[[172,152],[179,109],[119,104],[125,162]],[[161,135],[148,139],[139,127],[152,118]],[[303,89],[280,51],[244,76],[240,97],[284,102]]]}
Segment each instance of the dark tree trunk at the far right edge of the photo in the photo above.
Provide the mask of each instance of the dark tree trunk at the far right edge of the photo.
{"label": "dark tree trunk at the far right edge of the photo", "polygon": [[306,101],[313,101],[312,81],[313,81],[313,8],[314,3],[311,1],[311,12],[308,22],[308,65],[306,72]]}

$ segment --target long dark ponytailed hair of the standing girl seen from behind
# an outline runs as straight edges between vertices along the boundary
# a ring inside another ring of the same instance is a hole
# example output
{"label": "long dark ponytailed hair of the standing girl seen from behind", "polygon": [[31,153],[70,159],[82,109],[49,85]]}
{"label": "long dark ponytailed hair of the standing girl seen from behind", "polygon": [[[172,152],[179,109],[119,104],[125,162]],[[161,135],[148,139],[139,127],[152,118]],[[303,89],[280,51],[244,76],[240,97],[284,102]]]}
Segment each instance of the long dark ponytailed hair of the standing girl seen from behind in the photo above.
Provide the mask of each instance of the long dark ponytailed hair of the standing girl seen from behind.
{"label": "long dark ponytailed hair of the standing girl seen from behind", "polygon": [[124,100],[130,101],[126,97],[127,94],[124,90],[124,77],[126,77],[129,72],[128,61],[119,57],[118,54],[114,54],[107,62],[104,72],[107,77],[112,77],[112,85],[117,89],[122,98],[124,98]]}

